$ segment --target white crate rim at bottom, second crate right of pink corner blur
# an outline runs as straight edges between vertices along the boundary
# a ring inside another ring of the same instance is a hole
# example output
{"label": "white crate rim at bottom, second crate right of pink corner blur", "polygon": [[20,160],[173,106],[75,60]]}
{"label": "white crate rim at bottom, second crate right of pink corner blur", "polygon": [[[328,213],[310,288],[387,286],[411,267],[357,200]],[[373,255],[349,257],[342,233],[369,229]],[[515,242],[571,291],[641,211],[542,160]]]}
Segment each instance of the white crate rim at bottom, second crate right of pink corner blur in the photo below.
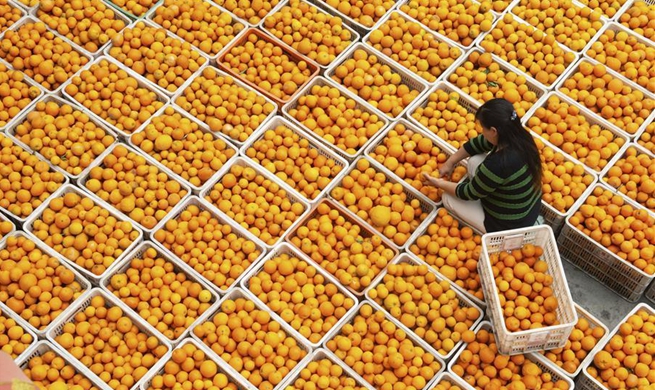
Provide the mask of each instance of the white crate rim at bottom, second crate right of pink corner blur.
{"label": "white crate rim at bottom, second crate right of pink corner blur", "polygon": [[[77,360],[73,355],[71,355],[70,352],[68,352],[59,343],[57,343],[56,338],[63,332],[64,325],[66,325],[69,322],[74,322],[75,315],[81,312],[82,310],[86,309],[87,307],[89,307],[91,305],[91,300],[97,296],[103,297],[105,299],[106,305],[109,305],[111,307],[114,306],[119,307],[121,310],[123,310],[123,315],[128,317],[130,320],[132,320],[132,323],[136,325],[137,328],[139,328],[140,332],[145,333],[148,336],[153,336],[157,338],[157,340],[159,341],[159,345],[163,345],[164,347],[166,347],[167,351],[171,350],[170,344],[163,337],[159,336],[157,332],[154,329],[152,329],[152,327],[146,321],[144,321],[138,315],[135,315],[130,310],[130,308],[127,307],[127,305],[124,305],[123,302],[121,302],[118,298],[114,297],[112,294],[107,294],[106,292],[102,291],[99,288],[94,288],[93,290],[85,294],[84,299],[80,299],[76,301],[74,308],[71,309],[66,316],[60,316],[59,318],[57,318],[55,323],[53,323],[53,327],[46,334],[47,340],[52,343],[52,345],[55,347],[55,349],[60,353],[62,357],[65,357],[71,361],[75,361],[79,365],[82,365],[81,361]],[[164,354],[164,356],[166,355]],[[152,370],[152,368],[150,368],[150,370]],[[100,377],[94,374],[91,370],[89,370],[86,374],[88,378],[92,382],[95,382],[102,390],[112,390],[112,388],[109,387],[107,383],[105,383],[102,379],[100,379]],[[137,389],[143,378],[145,378],[145,376],[147,375],[148,374],[144,375],[144,377],[136,381],[134,385],[130,387],[129,390]]]}

